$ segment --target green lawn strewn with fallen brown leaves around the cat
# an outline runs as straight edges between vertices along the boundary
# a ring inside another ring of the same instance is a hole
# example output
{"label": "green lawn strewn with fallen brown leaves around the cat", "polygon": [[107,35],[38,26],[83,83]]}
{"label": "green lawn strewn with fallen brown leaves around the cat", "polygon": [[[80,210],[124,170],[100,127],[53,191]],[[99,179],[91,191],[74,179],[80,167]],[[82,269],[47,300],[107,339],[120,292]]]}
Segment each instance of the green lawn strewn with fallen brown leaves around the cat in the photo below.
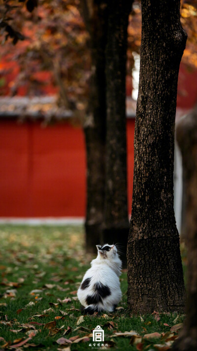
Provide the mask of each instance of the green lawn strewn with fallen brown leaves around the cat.
{"label": "green lawn strewn with fallen brown leaves around the cat", "polygon": [[[82,226],[0,226],[0,350],[170,348],[184,316],[133,316],[127,311],[125,270],[116,312],[80,317],[76,291],[93,259],[83,244]],[[93,343],[97,325],[104,330],[104,343]],[[158,334],[146,336],[151,333]]]}

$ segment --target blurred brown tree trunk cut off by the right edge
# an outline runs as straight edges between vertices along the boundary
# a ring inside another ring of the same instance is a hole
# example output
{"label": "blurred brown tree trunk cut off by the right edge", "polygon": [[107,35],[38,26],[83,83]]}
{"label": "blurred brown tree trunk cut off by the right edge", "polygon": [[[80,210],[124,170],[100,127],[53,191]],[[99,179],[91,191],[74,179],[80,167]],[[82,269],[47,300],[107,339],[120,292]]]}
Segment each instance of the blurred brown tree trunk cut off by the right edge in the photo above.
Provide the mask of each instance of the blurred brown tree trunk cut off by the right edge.
{"label": "blurred brown tree trunk cut off by the right edge", "polygon": [[182,153],[186,200],[186,243],[188,248],[186,321],[175,351],[197,350],[197,106],[177,126]]}

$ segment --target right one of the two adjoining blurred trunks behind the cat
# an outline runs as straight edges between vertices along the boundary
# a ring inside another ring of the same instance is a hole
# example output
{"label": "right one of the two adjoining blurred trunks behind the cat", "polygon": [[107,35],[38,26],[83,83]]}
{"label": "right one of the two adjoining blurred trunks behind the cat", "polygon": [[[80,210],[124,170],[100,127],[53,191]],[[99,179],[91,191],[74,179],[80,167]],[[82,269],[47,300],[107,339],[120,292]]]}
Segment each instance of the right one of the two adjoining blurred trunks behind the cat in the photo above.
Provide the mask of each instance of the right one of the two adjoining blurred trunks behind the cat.
{"label": "right one of the two adjoining blurred trunks behind the cat", "polygon": [[106,180],[102,239],[120,243],[126,261],[129,234],[127,202],[126,58],[132,1],[108,1],[106,45]]}

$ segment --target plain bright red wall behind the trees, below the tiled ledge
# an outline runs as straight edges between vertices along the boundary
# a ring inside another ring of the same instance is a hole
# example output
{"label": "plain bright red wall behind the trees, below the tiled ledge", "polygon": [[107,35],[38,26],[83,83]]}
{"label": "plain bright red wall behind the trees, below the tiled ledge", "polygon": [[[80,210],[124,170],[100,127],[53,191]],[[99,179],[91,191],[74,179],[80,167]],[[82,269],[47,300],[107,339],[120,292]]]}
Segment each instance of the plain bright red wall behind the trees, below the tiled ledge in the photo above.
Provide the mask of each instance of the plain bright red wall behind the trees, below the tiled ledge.
{"label": "plain bright red wall behind the trees, below the tiled ledge", "polygon": [[[134,119],[127,133],[131,212]],[[85,174],[81,128],[0,122],[0,217],[85,216]]]}

